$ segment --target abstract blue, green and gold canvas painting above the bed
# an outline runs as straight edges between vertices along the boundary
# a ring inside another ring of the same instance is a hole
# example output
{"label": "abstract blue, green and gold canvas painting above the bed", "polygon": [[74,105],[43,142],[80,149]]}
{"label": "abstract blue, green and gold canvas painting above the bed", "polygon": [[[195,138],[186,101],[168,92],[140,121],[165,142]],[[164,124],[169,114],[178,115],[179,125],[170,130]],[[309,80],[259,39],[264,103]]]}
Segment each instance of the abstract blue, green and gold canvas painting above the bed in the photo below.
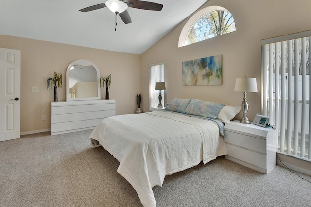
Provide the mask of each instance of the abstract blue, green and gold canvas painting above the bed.
{"label": "abstract blue, green and gold canvas painting above the bed", "polygon": [[221,54],[185,61],[182,63],[183,85],[221,85],[222,70]]}

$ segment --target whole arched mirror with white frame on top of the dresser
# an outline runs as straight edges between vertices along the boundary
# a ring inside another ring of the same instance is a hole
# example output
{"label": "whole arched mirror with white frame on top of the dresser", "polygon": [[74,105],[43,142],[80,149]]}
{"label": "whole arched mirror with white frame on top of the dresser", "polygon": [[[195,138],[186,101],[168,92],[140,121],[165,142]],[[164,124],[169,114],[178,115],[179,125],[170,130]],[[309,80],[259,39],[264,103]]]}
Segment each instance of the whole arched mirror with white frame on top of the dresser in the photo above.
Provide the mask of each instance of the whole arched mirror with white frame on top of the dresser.
{"label": "whole arched mirror with white frame on top of the dresser", "polygon": [[66,100],[101,99],[100,74],[96,65],[88,60],[76,60],[66,71]]}

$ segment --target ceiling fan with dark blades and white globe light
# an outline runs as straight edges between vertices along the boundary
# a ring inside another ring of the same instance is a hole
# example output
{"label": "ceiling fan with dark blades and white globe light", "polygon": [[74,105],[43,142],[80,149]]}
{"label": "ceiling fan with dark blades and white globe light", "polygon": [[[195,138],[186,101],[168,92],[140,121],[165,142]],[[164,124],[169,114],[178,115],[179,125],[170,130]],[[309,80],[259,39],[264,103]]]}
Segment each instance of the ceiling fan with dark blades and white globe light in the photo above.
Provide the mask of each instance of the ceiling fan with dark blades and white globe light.
{"label": "ceiling fan with dark blades and white globe light", "polygon": [[152,11],[161,11],[163,8],[162,4],[141,1],[141,0],[108,0],[105,3],[96,4],[93,6],[86,7],[84,9],[80,9],[80,12],[89,12],[96,9],[101,9],[104,7],[108,7],[110,11],[119,14],[120,18],[125,24],[131,23],[131,17],[127,12],[128,7],[136,8],[136,9],[144,9],[144,10],[152,10]]}

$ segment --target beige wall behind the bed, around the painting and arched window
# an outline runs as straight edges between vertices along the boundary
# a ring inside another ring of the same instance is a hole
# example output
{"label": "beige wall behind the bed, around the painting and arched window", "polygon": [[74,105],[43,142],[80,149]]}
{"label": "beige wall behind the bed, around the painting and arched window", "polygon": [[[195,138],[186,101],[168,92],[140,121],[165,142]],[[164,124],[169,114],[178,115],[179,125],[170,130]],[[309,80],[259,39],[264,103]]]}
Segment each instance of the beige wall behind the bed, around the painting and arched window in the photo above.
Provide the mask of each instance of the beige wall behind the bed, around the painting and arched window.
{"label": "beige wall behind the bed, around the painting and arched window", "polygon": [[[209,0],[207,6],[222,6],[234,17],[236,32],[178,48],[178,39],[187,18],[168,35],[141,55],[142,109],[149,106],[148,64],[167,61],[167,99],[198,98],[227,105],[241,105],[243,95],[234,92],[237,77],[257,78],[258,93],[248,93],[248,118],[260,114],[259,41],[311,29],[311,1]],[[182,86],[183,61],[223,55],[223,84],[215,86]],[[237,116],[241,118],[242,113]]]}

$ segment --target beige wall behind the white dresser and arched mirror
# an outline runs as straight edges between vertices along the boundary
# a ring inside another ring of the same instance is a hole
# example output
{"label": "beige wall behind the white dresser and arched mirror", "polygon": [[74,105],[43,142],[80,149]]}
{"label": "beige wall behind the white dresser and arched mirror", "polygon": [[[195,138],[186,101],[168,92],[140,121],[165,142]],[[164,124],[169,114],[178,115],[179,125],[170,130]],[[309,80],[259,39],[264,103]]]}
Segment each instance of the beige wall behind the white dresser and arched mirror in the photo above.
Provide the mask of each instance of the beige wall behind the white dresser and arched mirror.
{"label": "beige wall behind the white dresser and arched mirror", "polygon": [[[140,93],[140,55],[97,50],[66,44],[0,35],[0,47],[21,51],[21,133],[50,129],[51,101],[47,79],[53,72],[63,74],[58,101],[66,100],[66,69],[77,59],[93,62],[101,76],[111,75],[110,99],[116,100],[116,114],[134,113]],[[32,86],[39,92],[33,93]],[[105,91],[101,89],[101,97]],[[46,121],[41,116],[46,115]]]}

